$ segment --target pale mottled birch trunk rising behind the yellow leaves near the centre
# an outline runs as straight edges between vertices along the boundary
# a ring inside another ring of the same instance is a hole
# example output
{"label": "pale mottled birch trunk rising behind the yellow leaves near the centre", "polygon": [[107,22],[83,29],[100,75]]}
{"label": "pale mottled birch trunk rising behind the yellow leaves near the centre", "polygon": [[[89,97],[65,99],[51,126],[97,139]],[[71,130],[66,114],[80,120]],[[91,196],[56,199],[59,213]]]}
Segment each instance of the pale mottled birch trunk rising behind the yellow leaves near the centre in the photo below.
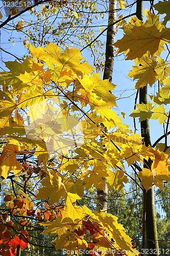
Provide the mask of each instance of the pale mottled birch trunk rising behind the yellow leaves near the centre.
{"label": "pale mottled birch trunk rising behind the yellow leaves near the centre", "polygon": [[[116,0],[109,0],[109,16],[108,16],[108,30],[107,30],[107,39],[106,39],[106,60],[105,60],[105,69],[103,80],[109,79],[112,81],[113,73],[113,62],[114,62],[114,48],[111,46],[114,44],[115,38],[115,25],[110,26],[116,20]],[[104,190],[98,189],[96,210],[100,211],[105,209],[107,211],[107,200],[108,200],[108,187],[105,180]]]}

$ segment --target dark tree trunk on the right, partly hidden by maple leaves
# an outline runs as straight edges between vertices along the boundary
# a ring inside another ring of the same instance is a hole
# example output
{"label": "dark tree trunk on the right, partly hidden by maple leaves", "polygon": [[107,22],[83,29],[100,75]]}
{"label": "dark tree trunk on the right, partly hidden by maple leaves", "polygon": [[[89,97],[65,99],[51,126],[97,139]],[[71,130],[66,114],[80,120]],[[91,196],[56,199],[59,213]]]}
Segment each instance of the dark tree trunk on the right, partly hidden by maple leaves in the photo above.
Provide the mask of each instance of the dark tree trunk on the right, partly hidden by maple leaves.
{"label": "dark tree trunk on the right, partly hidden by maple leaves", "polygon": [[[142,1],[137,0],[136,7],[136,16],[138,19],[142,20]],[[139,89],[139,103],[147,104],[148,102],[148,90],[147,86]],[[150,126],[149,119],[140,122],[141,137],[143,137],[143,143],[146,146],[151,145],[150,137]],[[144,168],[151,169],[152,161],[144,160]],[[143,191],[143,241],[142,249],[145,249],[145,232],[147,234],[147,249],[149,249],[149,255],[152,255],[154,252],[159,256],[159,245],[158,245],[158,236],[157,236],[157,226],[156,226],[156,216],[155,216],[155,202],[154,202],[154,185],[147,192]]]}

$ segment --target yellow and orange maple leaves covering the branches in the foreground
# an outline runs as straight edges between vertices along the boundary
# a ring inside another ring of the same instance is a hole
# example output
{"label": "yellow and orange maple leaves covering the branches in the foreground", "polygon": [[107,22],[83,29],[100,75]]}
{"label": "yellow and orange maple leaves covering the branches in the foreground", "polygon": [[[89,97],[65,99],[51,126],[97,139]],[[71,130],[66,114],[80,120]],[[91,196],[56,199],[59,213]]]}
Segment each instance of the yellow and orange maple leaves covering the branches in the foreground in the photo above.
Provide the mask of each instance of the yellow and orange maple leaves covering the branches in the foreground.
{"label": "yellow and orange maple leaves covering the branches in the foreground", "polygon": [[[131,18],[123,29],[115,46],[135,61],[128,74],[138,79],[135,88],[160,83],[157,95],[137,104],[131,116],[168,126],[170,70],[160,54],[170,29],[152,13],[146,22]],[[4,195],[1,210],[1,255],[16,255],[18,245],[25,249],[36,222],[45,227],[43,233],[56,234],[56,250],[138,255],[117,217],[91,211],[79,200],[92,185],[103,189],[104,177],[109,188],[122,190],[129,182],[125,163],[138,167],[142,189],[153,183],[163,188],[170,180],[167,140],[146,146],[129,130],[114,111],[115,85],[101,80],[76,48],[31,45],[30,56],[6,67],[9,71],[0,76],[0,175],[10,180],[13,192]],[[149,159],[151,169],[141,168]],[[19,179],[23,186],[15,191]]]}

